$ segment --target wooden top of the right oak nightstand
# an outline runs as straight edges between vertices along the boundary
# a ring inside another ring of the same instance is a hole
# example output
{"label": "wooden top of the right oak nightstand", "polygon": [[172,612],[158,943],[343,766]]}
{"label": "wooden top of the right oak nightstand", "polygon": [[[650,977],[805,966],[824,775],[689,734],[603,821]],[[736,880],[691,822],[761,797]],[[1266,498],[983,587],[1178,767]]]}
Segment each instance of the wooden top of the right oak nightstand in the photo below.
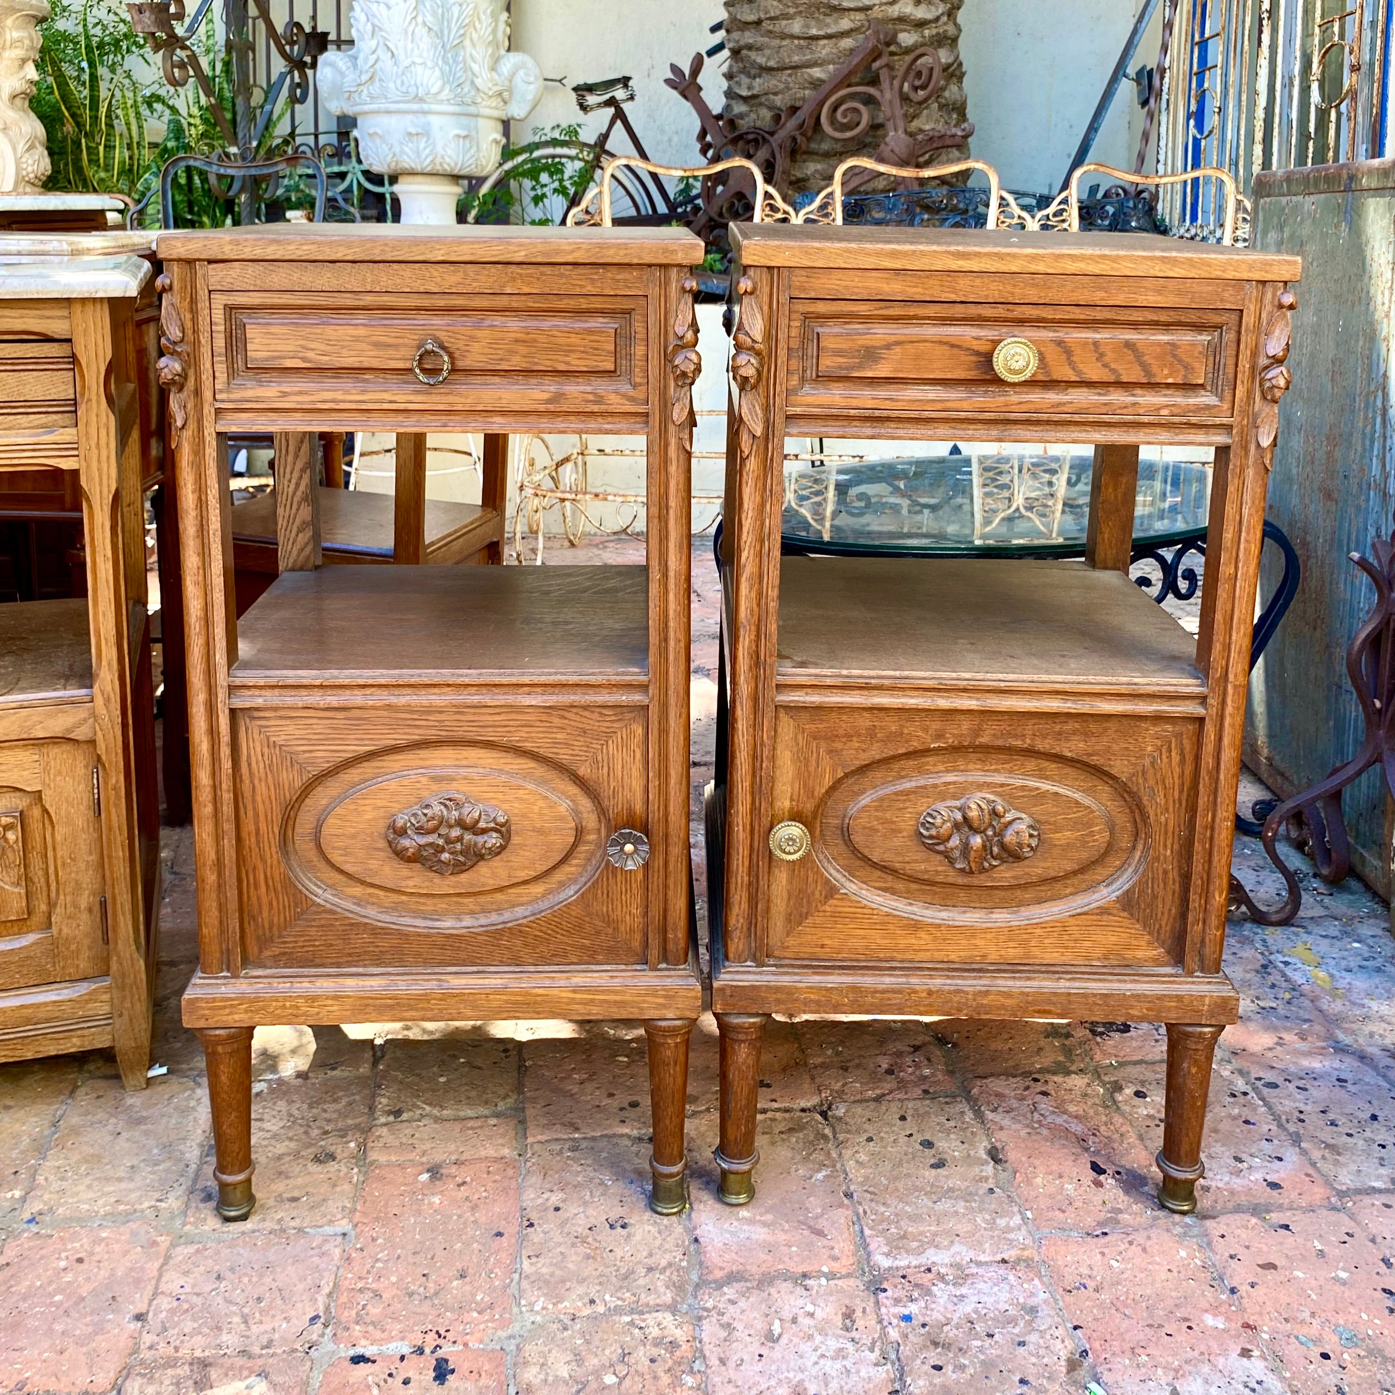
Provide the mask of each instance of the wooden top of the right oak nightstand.
{"label": "wooden top of the right oak nightstand", "polygon": [[1303,272],[1297,257],[1216,247],[1156,233],[732,223],[730,236],[744,266],[1056,272],[1201,280],[1297,280]]}

